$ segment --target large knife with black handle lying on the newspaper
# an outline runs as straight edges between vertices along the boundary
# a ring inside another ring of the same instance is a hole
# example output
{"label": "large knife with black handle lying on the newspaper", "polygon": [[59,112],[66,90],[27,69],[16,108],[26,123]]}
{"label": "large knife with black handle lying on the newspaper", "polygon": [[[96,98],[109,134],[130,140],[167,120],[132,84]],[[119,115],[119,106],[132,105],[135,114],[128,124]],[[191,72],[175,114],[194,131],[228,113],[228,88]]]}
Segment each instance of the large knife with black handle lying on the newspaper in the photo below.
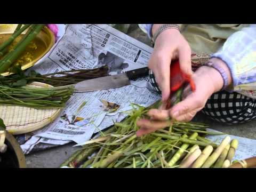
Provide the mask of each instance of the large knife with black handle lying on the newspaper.
{"label": "large knife with black handle lying on the newspaper", "polygon": [[126,71],[118,75],[94,78],[75,84],[76,92],[90,92],[118,88],[130,85],[131,80],[139,77],[146,77],[149,74],[148,67]]}

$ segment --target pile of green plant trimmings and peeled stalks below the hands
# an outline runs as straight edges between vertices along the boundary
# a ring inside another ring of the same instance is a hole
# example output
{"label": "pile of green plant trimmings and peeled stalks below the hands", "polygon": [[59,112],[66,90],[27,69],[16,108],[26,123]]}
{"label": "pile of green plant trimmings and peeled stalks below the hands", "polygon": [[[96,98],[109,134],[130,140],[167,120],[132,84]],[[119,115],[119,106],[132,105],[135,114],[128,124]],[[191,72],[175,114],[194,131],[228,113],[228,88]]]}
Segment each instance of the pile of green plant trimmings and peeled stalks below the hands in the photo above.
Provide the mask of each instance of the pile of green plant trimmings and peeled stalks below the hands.
{"label": "pile of green plant trimmings and peeled stalks below the hands", "polygon": [[101,132],[100,137],[85,143],[60,167],[157,168],[157,167],[228,167],[238,145],[230,137],[218,146],[205,138],[201,123],[170,123],[169,127],[137,137],[137,121],[148,118],[149,108],[133,105],[122,123]]}

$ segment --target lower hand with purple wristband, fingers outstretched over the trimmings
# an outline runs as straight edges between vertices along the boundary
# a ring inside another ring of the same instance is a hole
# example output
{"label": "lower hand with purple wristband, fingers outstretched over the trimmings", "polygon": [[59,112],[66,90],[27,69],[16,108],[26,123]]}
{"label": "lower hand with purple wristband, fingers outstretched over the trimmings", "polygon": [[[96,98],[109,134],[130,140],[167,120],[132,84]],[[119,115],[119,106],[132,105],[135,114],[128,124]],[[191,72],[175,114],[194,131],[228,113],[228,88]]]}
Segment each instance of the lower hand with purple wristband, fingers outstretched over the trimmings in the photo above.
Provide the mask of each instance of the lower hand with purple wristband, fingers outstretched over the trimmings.
{"label": "lower hand with purple wristband, fingers outstretched over the trimmings", "polygon": [[[219,66],[228,74],[228,81],[231,84],[231,74],[225,62],[220,59],[212,58],[213,62],[218,62]],[[200,67],[192,76],[196,85],[196,91],[191,92],[190,86],[183,91],[182,101],[173,106],[170,110],[151,109],[148,116],[151,120],[141,119],[137,122],[140,130],[137,136],[163,129],[173,118],[177,121],[190,121],[198,111],[204,108],[205,103],[215,92],[222,89],[223,79],[219,71],[211,67]]]}

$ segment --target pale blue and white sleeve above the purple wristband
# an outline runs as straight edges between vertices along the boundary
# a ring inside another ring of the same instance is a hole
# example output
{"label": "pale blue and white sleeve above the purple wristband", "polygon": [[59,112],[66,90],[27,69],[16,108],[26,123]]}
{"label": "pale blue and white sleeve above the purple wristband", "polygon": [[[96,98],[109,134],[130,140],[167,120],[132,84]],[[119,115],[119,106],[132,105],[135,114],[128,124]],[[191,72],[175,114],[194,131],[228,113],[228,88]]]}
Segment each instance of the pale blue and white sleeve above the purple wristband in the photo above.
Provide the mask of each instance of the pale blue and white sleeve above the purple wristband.
{"label": "pale blue and white sleeve above the purple wristband", "polygon": [[227,63],[233,78],[230,91],[256,90],[256,25],[231,35],[212,57]]}

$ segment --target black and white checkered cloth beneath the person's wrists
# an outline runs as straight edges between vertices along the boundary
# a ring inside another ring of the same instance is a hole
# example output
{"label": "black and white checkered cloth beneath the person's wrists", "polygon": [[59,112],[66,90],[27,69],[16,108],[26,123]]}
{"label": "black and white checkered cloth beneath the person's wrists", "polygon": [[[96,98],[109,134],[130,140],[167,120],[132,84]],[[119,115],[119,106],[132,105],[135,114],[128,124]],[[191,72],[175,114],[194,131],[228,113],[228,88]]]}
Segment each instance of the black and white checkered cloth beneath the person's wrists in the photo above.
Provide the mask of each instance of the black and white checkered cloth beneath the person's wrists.
{"label": "black and white checkered cloth beneath the person's wrists", "polygon": [[[151,70],[149,71],[149,78],[155,91],[161,94]],[[236,92],[221,91],[209,98],[202,113],[214,121],[228,125],[245,123],[256,118],[256,100]]]}

